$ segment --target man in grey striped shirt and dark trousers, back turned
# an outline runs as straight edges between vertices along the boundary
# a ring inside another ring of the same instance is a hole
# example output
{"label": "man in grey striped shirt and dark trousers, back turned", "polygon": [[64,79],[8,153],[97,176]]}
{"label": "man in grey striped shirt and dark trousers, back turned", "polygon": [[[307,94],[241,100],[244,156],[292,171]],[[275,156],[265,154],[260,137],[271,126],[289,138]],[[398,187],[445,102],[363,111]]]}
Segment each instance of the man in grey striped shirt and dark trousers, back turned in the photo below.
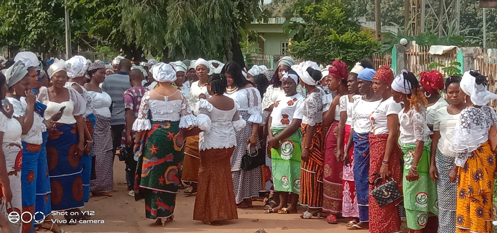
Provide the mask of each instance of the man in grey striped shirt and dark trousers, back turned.
{"label": "man in grey striped shirt and dark trousers, back turned", "polygon": [[125,122],[123,93],[131,88],[128,75],[130,70],[131,61],[123,59],[119,62],[119,71],[116,74],[105,77],[102,84],[102,90],[107,92],[112,98],[112,105],[110,105],[112,115],[110,127],[114,136],[112,140],[114,155],[116,154],[116,149],[121,146],[121,137]]}

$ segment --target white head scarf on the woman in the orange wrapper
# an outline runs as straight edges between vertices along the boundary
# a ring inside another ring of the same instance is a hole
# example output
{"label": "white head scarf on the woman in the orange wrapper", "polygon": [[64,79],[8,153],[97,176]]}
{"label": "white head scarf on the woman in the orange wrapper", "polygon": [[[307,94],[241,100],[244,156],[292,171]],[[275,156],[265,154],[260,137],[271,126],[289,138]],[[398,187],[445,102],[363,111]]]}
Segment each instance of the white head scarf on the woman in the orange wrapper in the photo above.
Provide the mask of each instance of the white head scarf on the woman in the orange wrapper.
{"label": "white head scarf on the woman in the orange wrapper", "polygon": [[487,86],[483,84],[476,84],[476,78],[467,71],[461,79],[459,85],[461,89],[470,96],[471,102],[477,106],[487,105],[491,99],[497,99],[497,94],[487,90]]}

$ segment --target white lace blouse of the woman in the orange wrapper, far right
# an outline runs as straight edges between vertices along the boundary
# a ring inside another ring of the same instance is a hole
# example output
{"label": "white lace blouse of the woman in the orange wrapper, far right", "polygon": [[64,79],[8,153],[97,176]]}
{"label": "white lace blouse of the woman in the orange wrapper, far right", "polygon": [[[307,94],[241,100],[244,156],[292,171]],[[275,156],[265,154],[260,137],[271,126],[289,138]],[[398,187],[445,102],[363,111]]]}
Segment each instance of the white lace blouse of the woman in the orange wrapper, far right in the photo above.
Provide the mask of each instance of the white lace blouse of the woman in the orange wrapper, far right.
{"label": "white lace blouse of the woman in the orange wrapper, far right", "polygon": [[449,149],[456,154],[457,166],[464,166],[468,156],[489,141],[490,127],[497,125],[497,115],[490,106],[467,107],[461,111],[457,125],[447,134]]}

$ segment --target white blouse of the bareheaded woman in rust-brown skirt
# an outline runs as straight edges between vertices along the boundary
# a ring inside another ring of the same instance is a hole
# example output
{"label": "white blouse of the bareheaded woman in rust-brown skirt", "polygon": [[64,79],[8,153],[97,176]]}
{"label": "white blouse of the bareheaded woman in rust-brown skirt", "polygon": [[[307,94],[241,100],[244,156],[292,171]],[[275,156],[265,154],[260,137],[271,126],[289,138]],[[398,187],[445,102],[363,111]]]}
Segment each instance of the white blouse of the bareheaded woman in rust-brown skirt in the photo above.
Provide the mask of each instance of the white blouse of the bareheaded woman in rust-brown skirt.
{"label": "white blouse of the bareheaded woman in rust-brown skirt", "polygon": [[203,132],[199,135],[199,149],[232,148],[237,146],[235,131],[246,126],[246,121],[238,113],[238,103],[231,110],[220,110],[209,101],[200,99],[199,115],[197,116],[198,128]]}

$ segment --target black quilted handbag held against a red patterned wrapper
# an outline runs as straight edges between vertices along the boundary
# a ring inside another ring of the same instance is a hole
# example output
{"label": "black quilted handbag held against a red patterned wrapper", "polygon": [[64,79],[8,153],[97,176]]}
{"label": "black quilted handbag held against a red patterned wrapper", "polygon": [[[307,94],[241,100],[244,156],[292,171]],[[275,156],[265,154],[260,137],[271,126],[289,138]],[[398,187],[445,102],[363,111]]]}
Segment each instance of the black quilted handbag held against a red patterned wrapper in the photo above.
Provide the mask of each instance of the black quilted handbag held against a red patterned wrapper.
{"label": "black quilted handbag held against a red patterned wrapper", "polygon": [[[379,175],[379,174],[380,173],[374,173],[371,176]],[[370,176],[370,178],[371,178],[371,176]],[[395,183],[394,179],[392,178],[392,176],[390,176],[390,178],[391,178],[390,181],[374,188],[371,191],[371,194],[373,195],[376,202],[378,202],[378,205],[380,207],[386,206],[386,205],[388,205],[388,204],[390,204],[390,203],[394,202],[395,200],[402,197],[402,194],[399,190],[399,187]],[[374,187],[378,183],[381,183],[381,181],[382,181],[382,178],[378,177],[375,179],[374,182],[369,182],[369,180],[368,180],[368,183],[370,185],[373,185],[373,187]]]}

